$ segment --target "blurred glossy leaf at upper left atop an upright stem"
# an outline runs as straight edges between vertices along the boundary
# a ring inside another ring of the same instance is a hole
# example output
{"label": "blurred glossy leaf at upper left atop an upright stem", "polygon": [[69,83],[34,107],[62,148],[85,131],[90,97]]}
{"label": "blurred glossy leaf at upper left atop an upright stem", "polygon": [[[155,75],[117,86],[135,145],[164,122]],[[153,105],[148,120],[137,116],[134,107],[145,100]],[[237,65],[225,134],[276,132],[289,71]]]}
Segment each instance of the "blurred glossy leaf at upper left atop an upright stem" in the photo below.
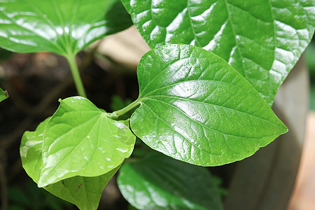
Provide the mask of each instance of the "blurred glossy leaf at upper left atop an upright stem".
{"label": "blurred glossy leaf at upper left atop an upright stem", "polygon": [[75,55],[132,23],[118,0],[3,0],[0,8],[0,46],[15,52]]}

